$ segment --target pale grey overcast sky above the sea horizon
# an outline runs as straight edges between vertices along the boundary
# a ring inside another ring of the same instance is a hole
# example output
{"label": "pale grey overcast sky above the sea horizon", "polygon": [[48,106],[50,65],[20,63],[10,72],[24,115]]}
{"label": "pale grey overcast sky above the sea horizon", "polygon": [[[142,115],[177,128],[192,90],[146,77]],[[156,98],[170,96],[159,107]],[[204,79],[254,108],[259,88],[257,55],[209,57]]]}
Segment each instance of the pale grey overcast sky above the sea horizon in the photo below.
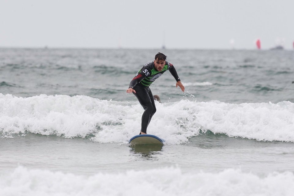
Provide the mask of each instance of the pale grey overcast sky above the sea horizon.
{"label": "pale grey overcast sky above the sea horizon", "polygon": [[0,47],[293,50],[294,0],[0,0]]}

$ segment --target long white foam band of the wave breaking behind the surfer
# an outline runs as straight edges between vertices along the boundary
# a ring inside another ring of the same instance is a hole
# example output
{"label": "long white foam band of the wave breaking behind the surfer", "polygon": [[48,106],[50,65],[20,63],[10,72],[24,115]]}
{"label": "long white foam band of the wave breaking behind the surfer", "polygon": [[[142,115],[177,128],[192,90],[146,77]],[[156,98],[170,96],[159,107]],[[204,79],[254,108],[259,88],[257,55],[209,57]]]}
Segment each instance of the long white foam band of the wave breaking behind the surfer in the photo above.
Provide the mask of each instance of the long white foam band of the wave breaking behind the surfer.
{"label": "long white foam band of the wave breaking behind the surfer", "polygon": [[[291,102],[229,104],[219,101],[156,102],[147,133],[182,144],[199,130],[265,141],[294,142]],[[28,98],[0,94],[0,133],[55,134],[66,138],[93,136],[102,143],[127,141],[140,132],[143,108],[88,96],[40,95]]]}

